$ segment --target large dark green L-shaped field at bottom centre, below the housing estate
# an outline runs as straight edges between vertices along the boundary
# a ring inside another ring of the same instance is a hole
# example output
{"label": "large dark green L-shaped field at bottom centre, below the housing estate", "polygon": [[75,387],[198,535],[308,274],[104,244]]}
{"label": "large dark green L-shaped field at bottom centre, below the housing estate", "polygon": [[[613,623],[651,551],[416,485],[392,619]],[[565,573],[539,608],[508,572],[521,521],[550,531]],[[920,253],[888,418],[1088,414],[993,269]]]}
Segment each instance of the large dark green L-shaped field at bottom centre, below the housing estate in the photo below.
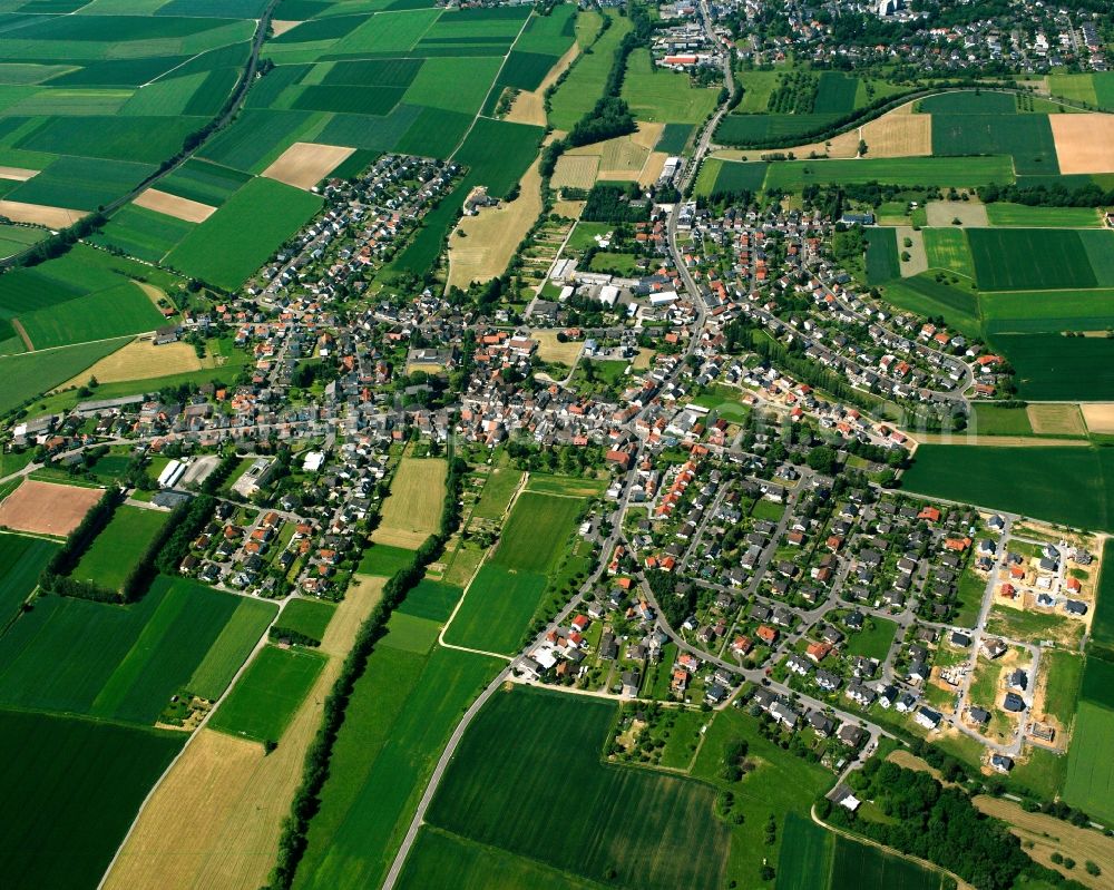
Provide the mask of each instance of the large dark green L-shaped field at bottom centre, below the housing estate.
{"label": "large dark green L-shaped field at bottom centre, below the housing estate", "polygon": [[[730,831],[710,818],[712,789],[603,765],[614,720],[607,702],[521,688],[497,694],[457,749],[428,822],[593,880],[613,876],[647,890],[719,886]],[[538,801],[569,776],[579,805],[563,811],[554,832]]]}

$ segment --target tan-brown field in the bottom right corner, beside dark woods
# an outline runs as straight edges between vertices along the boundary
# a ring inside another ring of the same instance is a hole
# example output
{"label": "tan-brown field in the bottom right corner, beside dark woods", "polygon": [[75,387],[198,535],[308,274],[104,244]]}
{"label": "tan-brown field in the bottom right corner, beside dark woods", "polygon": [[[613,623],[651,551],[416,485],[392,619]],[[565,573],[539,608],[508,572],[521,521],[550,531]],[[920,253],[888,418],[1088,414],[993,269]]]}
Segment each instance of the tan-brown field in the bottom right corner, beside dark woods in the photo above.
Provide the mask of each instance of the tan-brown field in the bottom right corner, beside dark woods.
{"label": "tan-brown field in the bottom right corner, beside dark woods", "polygon": [[[978,794],[975,805],[984,813],[1000,819],[1009,830],[1025,843],[1033,845],[1025,850],[1033,859],[1051,869],[1057,868],[1052,854],[1059,852],[1066,859],[1074,859],[1076,867],[1061,873],[1094,888],[1108,888],[1114,874],[1114,839],[1106,838],[1092,829],[1076,828],[1069,822],[1045,813],[1027,813],[1013,801]],[[1101,874],[1092,877],[1083,868],[1086,861],[1098,865]]]}

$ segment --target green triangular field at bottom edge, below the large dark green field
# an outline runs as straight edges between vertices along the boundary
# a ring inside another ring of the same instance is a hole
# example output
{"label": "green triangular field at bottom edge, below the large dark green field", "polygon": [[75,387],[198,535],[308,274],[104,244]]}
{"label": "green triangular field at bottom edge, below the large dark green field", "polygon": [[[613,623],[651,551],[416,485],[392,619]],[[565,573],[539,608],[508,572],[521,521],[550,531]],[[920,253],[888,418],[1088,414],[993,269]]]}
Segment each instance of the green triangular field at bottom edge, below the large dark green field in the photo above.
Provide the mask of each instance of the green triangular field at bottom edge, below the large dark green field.
{"label": "green triangular field at bottom edge, below the large dark green field", "polygon": [[457,890],[602,890],[605,884],[424,825],[407,858],[398,887],[403,890],[428,890],[431,887],[452,887]]}

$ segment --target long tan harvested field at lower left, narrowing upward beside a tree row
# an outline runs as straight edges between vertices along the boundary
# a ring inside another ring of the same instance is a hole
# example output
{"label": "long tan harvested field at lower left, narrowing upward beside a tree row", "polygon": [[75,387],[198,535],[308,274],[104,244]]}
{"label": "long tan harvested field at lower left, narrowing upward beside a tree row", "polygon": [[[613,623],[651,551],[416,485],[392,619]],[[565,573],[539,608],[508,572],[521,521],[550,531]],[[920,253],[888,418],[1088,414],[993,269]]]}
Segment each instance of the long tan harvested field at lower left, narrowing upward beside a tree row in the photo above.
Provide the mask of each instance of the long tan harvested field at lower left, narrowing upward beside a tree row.
{"label": "long tan harvested field at lower left, narrowing upward beside a tree row", "polygon": [[353,577],[321,642],[331,657],[271,754],[255,742],[198,731],[143,809],[106,888],[148,887],[153,874],[172,890],[266,884],[325,696],[384,584]]}

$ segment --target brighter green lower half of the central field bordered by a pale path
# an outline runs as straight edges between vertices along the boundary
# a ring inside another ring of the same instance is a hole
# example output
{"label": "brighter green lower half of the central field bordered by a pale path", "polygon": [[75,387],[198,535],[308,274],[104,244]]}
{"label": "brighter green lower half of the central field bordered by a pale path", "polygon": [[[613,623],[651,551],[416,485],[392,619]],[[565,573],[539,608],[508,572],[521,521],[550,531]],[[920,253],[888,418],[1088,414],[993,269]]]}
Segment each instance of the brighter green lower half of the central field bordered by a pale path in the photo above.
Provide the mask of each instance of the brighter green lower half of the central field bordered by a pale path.
{"label": "brighter green lower half of the central field bordered by a pale path", "polygon": [[488,563],[465,594],[444,639],[485,652],[514,653],[541,603],[547,578]]}

